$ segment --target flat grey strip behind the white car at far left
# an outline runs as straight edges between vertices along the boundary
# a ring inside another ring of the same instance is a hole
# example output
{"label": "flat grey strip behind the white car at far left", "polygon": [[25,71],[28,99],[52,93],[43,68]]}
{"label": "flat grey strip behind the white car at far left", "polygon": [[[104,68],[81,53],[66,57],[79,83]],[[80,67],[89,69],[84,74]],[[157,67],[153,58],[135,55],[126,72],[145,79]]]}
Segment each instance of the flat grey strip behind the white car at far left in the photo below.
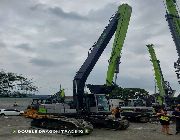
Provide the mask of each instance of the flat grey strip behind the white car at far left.
{"label": "flat grey strip behind the white car at far left", "polygon": [[[14,103],[18,106],[13,106]],[[0,109],[25,110],[32,102],[32,98],[0,98]]]}

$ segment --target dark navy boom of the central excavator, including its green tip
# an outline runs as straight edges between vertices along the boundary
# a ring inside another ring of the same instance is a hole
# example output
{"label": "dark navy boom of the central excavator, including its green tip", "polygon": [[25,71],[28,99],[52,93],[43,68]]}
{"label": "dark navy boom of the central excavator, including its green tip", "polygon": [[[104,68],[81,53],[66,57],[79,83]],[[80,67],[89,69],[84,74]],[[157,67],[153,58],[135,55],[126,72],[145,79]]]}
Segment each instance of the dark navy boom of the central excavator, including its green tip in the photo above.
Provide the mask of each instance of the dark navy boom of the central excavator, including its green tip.
{"label": "dark navy boom of the central excavator, including its green tip", "polygon": [[117,13],[114,15],[114,17],[112,17],[108,26],[105,27],[98,41],[92,46],[91,52],[89,52],[87,59],[76,73],[73,80],[73,97],[77,110],[81,110],[84,107],[84,87],[90,72],[94,68],[96,62],[115,33],[119,19],[120,21],[123,20],[127,12],[131,13],[131,11],[132,8],[127,4],[122,4],[119,6]]}

